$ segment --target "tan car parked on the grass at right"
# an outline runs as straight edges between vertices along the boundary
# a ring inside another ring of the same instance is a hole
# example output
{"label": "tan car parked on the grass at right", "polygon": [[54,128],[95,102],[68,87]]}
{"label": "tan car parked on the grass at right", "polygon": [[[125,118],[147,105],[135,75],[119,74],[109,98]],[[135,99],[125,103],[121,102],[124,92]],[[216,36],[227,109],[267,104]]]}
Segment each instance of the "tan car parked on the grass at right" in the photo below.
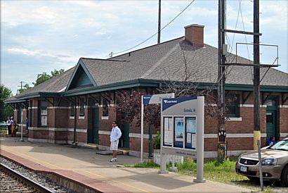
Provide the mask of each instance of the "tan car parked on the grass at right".
{"label": "tan car parked on the grass at right", "polygon": [[[261,149],[263,180],[280,180],[288,187],[288,137]],[[241,154],[236,162],[236,173],[245,175],[249,180],[260,178],[258,151]]]}

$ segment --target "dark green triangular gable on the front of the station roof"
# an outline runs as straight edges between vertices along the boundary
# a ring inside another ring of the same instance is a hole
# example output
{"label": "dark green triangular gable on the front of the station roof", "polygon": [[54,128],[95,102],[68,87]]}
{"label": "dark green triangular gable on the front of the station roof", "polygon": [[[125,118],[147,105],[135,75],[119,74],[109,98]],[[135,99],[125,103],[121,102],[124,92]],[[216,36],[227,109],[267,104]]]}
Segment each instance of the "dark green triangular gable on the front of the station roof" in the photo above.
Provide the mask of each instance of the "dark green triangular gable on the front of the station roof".
{"label": "dark green triangular gable on the front of the station roof", "polygon": [[97,84],[80,58],[65,91],[82,87],[97,87]]}

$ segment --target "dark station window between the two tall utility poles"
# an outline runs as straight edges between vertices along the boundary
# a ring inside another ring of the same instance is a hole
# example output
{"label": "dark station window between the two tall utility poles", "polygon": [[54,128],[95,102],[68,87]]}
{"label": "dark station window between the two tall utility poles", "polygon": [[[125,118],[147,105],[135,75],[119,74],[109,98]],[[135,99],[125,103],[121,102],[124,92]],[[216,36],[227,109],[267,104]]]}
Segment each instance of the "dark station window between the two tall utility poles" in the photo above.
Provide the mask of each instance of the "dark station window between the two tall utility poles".
{"label": "dark station window between the two tall utility poles", "polygon": [[237,94],[228,94],[226,97],[226,107],[228,108],[227,117],[240,117],[239,96]]}

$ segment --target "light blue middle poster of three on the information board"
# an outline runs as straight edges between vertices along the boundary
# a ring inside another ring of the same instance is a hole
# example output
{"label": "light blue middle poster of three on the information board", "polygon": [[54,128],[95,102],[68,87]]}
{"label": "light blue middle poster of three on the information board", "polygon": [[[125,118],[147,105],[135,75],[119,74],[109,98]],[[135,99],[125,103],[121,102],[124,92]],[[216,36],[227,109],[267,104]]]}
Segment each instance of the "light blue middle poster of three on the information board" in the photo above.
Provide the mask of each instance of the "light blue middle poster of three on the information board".
{"label": "light blue middle poster of three on the information board", "polygon": [[184,118],[174,118],[174,147],[183,147],[184,142]]}

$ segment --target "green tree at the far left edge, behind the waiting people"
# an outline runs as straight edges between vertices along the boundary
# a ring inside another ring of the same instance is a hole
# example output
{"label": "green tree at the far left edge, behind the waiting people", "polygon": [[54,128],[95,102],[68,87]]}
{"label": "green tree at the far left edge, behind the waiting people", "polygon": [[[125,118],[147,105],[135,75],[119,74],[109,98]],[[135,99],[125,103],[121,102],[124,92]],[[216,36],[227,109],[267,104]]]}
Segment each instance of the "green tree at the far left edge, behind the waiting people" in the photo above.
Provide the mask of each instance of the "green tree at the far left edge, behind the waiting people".
{"label": "green tree at the far left edge, behind the waiting people", "polygon": [[0,121],[6,120],[8,116],[13,115],[13,108],[8,104],[4,104],[4,101],[12,97],[11,89],[5,87],[4,85],[0,85]]}

